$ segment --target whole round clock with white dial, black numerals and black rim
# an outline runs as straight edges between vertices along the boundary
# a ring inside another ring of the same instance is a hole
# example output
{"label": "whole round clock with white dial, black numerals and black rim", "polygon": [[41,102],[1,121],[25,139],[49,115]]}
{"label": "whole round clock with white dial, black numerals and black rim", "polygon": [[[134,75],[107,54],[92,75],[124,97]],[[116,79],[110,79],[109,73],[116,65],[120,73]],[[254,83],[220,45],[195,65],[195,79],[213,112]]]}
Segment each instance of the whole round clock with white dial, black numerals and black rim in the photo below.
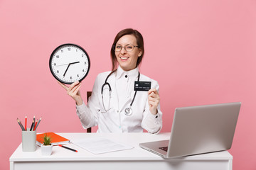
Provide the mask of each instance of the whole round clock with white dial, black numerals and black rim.
{"label": "whole round clock with white dial, black numerals and black rim", "polygon": [[50,55],[50,72],[64,84],[82,81],[90,69],[90,58],[85,50],[74,44],[63,44]]}

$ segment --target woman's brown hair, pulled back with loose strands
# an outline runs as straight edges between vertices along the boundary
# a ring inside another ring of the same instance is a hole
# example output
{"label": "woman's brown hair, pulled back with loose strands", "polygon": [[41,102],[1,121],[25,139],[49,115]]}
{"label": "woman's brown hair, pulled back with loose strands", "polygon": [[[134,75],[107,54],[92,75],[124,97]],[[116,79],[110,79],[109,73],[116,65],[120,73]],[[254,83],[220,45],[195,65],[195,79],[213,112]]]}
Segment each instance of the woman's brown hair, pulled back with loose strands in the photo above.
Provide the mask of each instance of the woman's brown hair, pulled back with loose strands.
{"label": "woman's brown hair, pulled back with loose strands", "polygon": [[138,58],[136,67],[141,64],[142,62],[142,57],[144,55],[144,41],[142,34],[139,33],[139,31],[134,30],[132,28],[127,28],[124,30],[121,30],[119,33],[117,33],[116,37],[114,38],[114,42],[112,44],[111,50],[110,50],[110,55],[111,55],[111,61],[112,61],[112,72],[114,72],[117,69],[117,57],[114,54],[114,47],[117,44],[117,41],[122,38],[124,35],[134,35],[134,37],[137,40],[137,45],[139,46],[139,49],[142,50],[142,55]]}

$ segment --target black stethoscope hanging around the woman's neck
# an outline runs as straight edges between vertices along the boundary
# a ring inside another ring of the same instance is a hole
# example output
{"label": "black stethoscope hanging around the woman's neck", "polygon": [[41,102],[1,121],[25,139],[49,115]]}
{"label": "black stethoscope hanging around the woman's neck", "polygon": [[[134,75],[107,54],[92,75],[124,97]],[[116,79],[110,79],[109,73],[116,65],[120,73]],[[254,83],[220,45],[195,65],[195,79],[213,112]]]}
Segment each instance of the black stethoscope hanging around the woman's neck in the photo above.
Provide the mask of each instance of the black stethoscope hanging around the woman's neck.
{"label": "black stethoscope hanging around the woman's neck", "polygon": [[[113,74],[116,70],[114,70],[113,72],[111,72],[110,74],[108,74],[107,78],[105,79],[105,84],[102,85],[102,91],[101,91],[101,94],[102,94],[102,104],[103,104],[103,108],[104,110],[107,112],[107,111],[110,111],[110,108],[107,110],[105,108],[105,104],[104,104],[104,100],[103,100],[103,89],[104,89],[104,86],[108,86],[109,87],[109,91],[110,91],[110,98],[111,98],[111,92],[112,92],[112,89],[111,89],[111,86],[110,84],[107,82],[107,79],[110,77],[111,74]],[[139,77],[140,77],[140,74],[138,74],[138,80],[139,81]],[[134,94],[134,97],[132,98],[132,103],[134,102],[134,99],[135,99],[135,96],[137,94],[137,91],[135,91],[135,94]],[[132,103],[129,105],[129,107],[125,108],[124,109],[124,114],[125,115],[132,115]],[[110,106],[110,100],[109,100],[109,106]]]}

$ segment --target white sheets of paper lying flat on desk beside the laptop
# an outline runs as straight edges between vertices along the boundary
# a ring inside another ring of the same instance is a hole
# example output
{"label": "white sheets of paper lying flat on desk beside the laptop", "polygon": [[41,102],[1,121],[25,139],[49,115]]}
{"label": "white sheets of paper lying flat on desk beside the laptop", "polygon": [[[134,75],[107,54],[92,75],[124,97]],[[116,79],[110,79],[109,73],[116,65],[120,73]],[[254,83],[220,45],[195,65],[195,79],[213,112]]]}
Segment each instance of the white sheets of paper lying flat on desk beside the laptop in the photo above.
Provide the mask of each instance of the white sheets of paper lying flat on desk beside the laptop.
{"label": "white sheets of paper lying flat on desk beside the laptop", "polygon": [[105,137],[93,137],[81,140],[71,140],[78,147],[91,152],[92,154],[103,154],[107,152],[115,152],[120,150],[132,149],[129,145],[114,142]]}

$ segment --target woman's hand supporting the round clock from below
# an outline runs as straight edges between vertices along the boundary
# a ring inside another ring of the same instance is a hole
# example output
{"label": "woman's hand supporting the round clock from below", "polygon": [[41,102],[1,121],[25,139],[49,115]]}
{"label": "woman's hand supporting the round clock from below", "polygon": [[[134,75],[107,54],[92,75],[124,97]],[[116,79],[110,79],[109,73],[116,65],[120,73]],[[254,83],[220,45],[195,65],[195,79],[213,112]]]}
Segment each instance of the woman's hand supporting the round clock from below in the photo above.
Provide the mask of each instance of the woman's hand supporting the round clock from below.
{"label": "woman's hand supporting the round clock from below", "polygon": [[58,84],[60,84],[60,86],[62,86],[67,91],[68,95],[75,100],[75,103],[78,106],[82,104],[82,96],[79,91],[81,83],[79,81],[75,81],[70,86],[66,86],[63,83],[60,83],[60,81],[58,81]]}

